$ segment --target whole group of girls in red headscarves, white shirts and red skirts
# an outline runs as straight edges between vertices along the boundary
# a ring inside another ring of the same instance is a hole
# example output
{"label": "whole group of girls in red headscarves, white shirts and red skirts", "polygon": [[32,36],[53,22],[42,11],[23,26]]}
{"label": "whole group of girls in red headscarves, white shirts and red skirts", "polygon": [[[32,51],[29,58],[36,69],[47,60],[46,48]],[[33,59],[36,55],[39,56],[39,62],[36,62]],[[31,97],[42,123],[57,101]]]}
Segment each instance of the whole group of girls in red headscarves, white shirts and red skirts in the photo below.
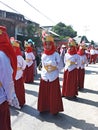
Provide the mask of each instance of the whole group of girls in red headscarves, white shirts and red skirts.
{"label": "whole group of girls in red headscarves, white shirts and red skirts", "polygon": [[[10,39],[6,27],[0,26],[0,130],[11,130],[9,106],[19,109],[24,106],[25,83],[33,83],[37,74],[33,41],[24,41],[24,47],[22,53],[20,41]],[[78,91],[84,88],[85,67],[92,62],[95,64],[97,55],[94,46],[87,48],[84,43],[77,46],[72,38],[58,53],[54,38],[47,35],[43,39],[37,110],[53,115],[64,111],[62,97],[77,99]],[[62,69],[61,90],[59,73]]]}

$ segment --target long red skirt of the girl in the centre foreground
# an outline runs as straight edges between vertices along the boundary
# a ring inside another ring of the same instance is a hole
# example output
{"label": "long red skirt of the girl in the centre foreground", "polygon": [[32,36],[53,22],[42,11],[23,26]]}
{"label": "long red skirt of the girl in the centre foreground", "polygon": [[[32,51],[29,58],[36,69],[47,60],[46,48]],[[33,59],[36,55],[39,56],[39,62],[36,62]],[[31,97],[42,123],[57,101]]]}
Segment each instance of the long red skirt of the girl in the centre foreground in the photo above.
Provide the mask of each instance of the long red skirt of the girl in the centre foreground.
{"label": "long red skirt of the girl in the centre foreground", "polygon": [[59,78],[52,82],[40,80],[38,110],[49,111],[51,114],[63,111]]}

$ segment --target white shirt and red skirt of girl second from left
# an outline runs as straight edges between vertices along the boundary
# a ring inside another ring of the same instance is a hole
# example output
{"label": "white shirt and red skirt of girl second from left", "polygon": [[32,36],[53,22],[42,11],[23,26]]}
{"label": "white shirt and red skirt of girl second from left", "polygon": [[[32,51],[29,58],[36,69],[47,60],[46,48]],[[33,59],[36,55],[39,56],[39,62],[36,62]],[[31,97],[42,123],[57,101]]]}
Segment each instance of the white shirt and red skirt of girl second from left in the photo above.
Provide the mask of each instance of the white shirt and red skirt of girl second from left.
{"label": "white shirt and red skirt of girl second from left", "polygon": [[19,105],[22,107],[25,102],[25,86],[24,86],[24,77],[23,71],[26,68],[26,62],[21,55],[17,56],[17,73],[14,80],[15,92],[19,100]]}

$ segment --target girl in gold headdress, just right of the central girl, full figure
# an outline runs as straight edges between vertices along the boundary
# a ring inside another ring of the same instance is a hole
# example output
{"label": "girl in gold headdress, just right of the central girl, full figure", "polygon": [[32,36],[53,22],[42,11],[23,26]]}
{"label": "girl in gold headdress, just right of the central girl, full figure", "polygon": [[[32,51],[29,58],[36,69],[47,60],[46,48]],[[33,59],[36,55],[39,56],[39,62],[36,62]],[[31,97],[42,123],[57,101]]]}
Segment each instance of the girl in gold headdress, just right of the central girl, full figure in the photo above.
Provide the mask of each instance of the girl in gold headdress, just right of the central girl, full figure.
{"label": "girl in gold headdress, just right of the central girl, full figure", "polygon": [[62,96],[74,99],[78,95],[77,87],[77,64],[78,55],[76,50],[76,44],[74,41],[69,42],[67,53],[64,57],[64,74],[63,74],[63,86],[62,86]]}

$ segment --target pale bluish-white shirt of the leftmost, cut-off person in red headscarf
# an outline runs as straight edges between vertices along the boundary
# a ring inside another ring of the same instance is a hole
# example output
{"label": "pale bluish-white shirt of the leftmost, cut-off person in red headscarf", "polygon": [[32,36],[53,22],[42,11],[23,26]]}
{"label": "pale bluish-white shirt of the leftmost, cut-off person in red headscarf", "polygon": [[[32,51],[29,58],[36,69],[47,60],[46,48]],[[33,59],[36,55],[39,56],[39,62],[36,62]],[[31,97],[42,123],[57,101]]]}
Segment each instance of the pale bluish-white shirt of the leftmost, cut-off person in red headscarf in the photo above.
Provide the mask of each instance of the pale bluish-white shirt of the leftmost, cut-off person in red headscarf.
{"label": "pale bluish-white shirt of the leftmost, cut-off person in red headscarf", "polygon": [[4,101],[11,102],[12,95],[15,93],[13,82],[13,69],[10,64],[9,58],[4,52],[0,51],[0,104]]}

